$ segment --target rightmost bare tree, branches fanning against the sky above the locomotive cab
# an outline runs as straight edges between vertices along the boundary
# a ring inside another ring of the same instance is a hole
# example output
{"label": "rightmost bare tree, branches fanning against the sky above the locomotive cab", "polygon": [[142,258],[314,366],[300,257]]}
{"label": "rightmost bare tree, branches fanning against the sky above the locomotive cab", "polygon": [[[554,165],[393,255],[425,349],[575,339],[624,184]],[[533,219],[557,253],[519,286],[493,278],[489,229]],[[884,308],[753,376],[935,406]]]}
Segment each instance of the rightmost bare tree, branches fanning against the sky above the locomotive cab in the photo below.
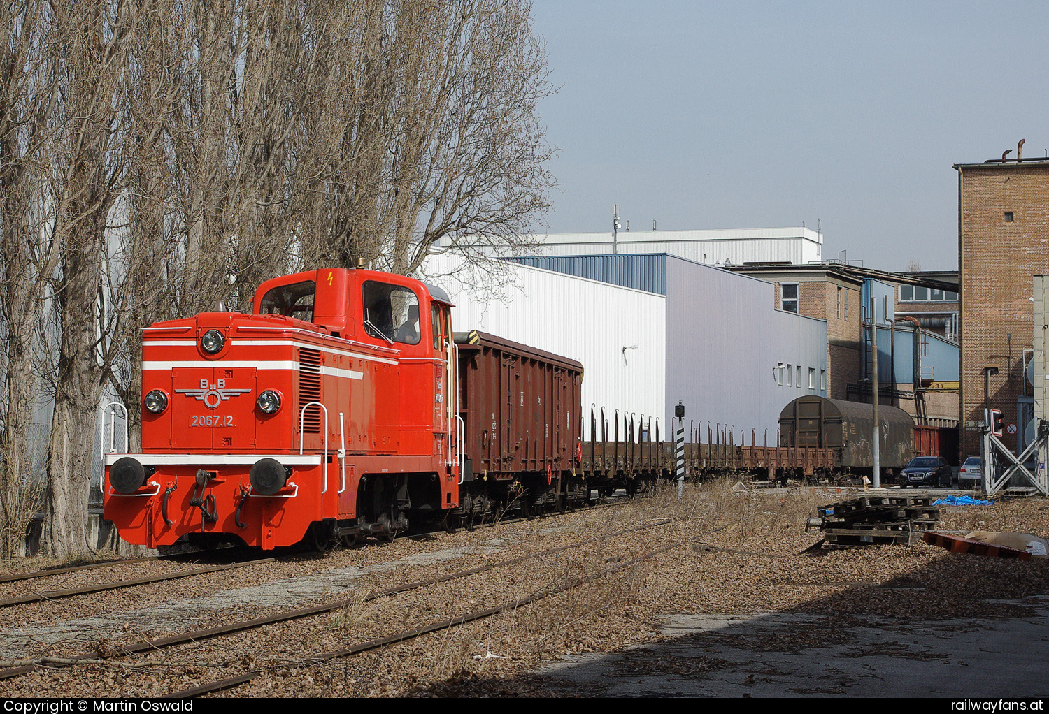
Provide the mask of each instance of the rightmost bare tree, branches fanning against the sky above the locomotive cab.
{"label": "rightmost bare tree, branches fanning against the sky above the locomotive cab", "polygon": [[395,232],[382,261],[398,273],[419,268],[443,238],[468,258],[477,239],[528,241],[554,183],[536,113],[553,89],[531,3],[448,0],[435,9],[442,22],[411,25],[422,42],[402,71],[413,108],[392,149]]}

